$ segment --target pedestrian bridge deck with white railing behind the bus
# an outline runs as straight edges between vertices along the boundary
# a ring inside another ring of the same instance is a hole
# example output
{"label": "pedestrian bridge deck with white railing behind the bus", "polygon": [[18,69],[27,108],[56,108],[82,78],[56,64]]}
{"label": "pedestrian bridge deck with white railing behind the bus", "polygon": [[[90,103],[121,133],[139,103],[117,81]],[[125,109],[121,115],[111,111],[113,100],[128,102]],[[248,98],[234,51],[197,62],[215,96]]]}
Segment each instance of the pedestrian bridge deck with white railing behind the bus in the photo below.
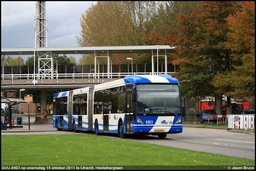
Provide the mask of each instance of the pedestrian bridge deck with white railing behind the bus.
{"label": "pedestrian bridge deck with white railing behind the bus", "polygon": [[[168,74],[173,72],[168,72]],[[16,89],[26,88],[26,90],[36,89],[73,89],[83,88],[91,84],[107,83],[116,79],[125,77],[126,75],[152,75],[152,74],[167,74],[165,72],[119,72],[119,73],[59,73],[54,74],[52,78],[44,76],[43,79],[37,79],[38,75],[33,74],[4,74],[1,80],[1,89]],[[34,82],[36,80],[36,83]]]}

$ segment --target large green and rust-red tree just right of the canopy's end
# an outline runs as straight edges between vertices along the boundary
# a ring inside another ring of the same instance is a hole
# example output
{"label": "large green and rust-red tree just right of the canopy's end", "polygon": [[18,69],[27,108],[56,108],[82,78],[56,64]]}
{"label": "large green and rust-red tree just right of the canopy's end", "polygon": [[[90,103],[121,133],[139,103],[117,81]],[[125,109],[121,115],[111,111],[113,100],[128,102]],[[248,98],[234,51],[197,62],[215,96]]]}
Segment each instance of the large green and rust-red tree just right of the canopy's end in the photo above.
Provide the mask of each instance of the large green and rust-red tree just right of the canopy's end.
{"label": "large green and rust-red tree just right of the canopy's end", "polygon": [[186,97],[221,97],[212,82],[218,73],[232,71],[230,64],[236,63],[225,46],[229,32],[225,19],[239,9],[239,2],[201,2],[193,13],[179,15],[174,63],[180,71],[175,76],[181,80]]}

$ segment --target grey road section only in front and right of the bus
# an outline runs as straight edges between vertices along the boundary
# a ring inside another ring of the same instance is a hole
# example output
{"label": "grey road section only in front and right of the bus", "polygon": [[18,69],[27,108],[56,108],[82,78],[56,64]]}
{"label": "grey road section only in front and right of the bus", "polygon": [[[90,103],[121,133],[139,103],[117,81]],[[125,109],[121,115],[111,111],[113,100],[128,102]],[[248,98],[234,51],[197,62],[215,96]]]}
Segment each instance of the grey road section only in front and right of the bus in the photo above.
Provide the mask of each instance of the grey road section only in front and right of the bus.
{"label": "grey road section only in front and right of the bus", "polygon": [[182,134],[168,134],[165,140],[150,136],[143,140],[132,140],[255,160],[254,134],[235,133],[226,129],[184,127]]}

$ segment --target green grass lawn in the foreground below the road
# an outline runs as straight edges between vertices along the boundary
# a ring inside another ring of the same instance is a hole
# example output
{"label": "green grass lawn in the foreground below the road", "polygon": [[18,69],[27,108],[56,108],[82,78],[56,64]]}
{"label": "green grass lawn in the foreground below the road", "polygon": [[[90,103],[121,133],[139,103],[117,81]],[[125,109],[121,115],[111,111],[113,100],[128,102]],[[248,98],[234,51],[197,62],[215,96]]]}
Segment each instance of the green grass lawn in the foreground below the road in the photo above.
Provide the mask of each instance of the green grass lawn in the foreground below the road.
{"label": "green grass lawn in the foreground below the road", "polygon": [[91,134],[2,135],[2,166],[120,166],[224,169],[254,160]]}

